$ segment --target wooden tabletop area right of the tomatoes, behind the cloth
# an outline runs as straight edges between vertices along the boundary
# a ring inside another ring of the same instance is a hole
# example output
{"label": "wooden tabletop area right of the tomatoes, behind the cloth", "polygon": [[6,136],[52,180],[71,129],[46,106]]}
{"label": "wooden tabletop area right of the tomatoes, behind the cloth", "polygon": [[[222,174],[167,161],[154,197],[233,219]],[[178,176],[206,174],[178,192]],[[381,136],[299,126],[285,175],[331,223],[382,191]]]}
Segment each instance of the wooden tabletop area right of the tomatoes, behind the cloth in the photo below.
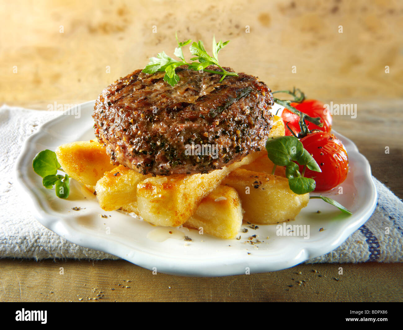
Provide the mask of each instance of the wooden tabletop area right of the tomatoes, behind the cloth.
{"label": "wooden tabletop area right of the tomatoes, behind the cloth", "polygon": [[403,100],[337,102],[357,104],[357,118],[334,116],[333,128],[351,139],[370,162],[372,174],[403,198]]}

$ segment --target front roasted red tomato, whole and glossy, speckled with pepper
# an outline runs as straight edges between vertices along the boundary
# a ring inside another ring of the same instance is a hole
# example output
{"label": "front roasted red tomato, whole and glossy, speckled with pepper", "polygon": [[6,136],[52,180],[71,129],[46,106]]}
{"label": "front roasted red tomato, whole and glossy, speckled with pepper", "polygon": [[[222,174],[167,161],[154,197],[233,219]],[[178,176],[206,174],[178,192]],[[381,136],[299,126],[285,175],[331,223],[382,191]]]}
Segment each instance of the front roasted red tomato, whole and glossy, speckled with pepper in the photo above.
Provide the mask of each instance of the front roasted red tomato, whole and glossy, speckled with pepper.
{"label": "front roasted red tomato, whole and glossy, speckled with pepper", "polygon": [[[343,143],[327,132],[317,132],[300,140],[303,147],[318,163],[322,172],[305,170],[304,176],[316,182],[315,191],[325,191],[340,185],[349,170],[349,160]],[[300,166],[299,171],[302,171]]]}

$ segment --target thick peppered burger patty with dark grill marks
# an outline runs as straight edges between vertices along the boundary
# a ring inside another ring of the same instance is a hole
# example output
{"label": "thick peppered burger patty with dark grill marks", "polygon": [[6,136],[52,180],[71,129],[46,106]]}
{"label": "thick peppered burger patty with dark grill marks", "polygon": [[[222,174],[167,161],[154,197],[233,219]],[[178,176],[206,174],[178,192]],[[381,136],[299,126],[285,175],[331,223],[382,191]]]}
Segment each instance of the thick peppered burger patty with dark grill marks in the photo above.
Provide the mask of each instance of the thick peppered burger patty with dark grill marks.
{"label": "thick peppered burger patty with dark grill marks", "polygon": [[208,173],[264,149],[274,102],[262,81],[239,73],[220,82],[186,66],[176,73],[172,87],[164,72],[136,70],[99,95],[95,134],[112,162],[143,174]]}

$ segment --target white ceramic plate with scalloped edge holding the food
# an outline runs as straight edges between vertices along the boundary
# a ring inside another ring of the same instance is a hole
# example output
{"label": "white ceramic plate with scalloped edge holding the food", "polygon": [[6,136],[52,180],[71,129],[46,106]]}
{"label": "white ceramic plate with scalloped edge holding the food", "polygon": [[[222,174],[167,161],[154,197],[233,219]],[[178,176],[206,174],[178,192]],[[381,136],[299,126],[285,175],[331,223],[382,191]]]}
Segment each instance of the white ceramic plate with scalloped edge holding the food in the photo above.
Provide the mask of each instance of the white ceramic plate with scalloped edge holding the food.
{"label": "white ceramic plate with scalloped edge holding the food", "polygon": [[[197,230],[186,234],[192,241],[147,239],[147,234],[156,227],[118,211],[103,211],[96,197],[86,193],[74,180],[71,180],[69,199],[59,199],[53,189],[42,186],[42,179],[33,172],[32,160],[38,152],[55,150],[63,143],[95,138],[91,117],[93,104],[94,101],[81,104],[80,118],[67,112],[41,125],[25,142],[16,164],[17,182],[32,201],[37,220],[83,247],[111,253],[141,267],[168,274],[224,276],[245,274],[248,270],[250,273],[268,272],[295,266],[337,248],[368,220],[376,206],[376,188],[368,161],[359,154],[353,142],[333,132],[347,149],[350,170],[341,185],[343,194],[333,189],[324,195],[339,201],[353,215],[343,214],[320,199],[313,199],[295,221],[287,222],[309,225],[309,239],[277,236],[275,225],[259,226],[255,230],[247,224],[242,228],[249,231],[240,232],[240,240],[200,235]],[[82,209],[73,211],[76,206]],[[100,216],[104,214],[108,217]],[[262,243],[245,243],[254,234]]]}

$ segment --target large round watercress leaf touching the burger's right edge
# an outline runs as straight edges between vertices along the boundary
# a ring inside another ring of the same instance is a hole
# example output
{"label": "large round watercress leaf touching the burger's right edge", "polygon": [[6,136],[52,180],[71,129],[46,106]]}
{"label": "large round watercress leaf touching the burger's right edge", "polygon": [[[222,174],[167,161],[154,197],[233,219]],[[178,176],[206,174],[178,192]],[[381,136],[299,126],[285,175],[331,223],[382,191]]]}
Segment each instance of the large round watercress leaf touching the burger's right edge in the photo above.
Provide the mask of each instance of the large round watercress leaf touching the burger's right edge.
{"label": "large round watercress leaf touching the burger's right edge", "polygon": [[303,154],[302,143],[293,136],[268,139],[266,149],[268,158],[279,166],[287,166],[289,162],[296,161]]}

